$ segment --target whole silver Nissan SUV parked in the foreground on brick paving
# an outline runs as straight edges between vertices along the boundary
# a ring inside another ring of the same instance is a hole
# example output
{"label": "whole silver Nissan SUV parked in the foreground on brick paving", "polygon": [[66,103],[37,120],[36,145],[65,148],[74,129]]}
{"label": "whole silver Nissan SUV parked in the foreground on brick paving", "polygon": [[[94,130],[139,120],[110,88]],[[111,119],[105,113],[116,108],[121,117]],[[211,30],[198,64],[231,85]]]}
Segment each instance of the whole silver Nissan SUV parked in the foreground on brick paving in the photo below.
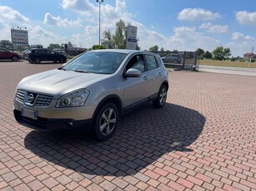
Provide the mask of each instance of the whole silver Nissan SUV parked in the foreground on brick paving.
{"label": "whole silver Nissan SUV parked in the foreground on brick paving", "polygon": [[108,140],[118,119],[145,101],[162,108],[168,71],[148,51],[88,51],[62,67],[27,76],[14,96],[18,123],[35,130],[90,130]]}

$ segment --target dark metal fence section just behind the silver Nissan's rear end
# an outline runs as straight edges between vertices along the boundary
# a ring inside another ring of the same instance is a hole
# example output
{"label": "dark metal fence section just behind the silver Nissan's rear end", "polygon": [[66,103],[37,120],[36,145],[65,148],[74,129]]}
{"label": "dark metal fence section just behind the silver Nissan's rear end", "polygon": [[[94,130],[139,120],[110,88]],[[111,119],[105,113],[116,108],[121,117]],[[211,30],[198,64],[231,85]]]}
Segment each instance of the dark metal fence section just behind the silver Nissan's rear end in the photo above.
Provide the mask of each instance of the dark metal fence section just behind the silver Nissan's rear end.
{"label": "dark metal fence section just behind the silver Nissan's rear end", "polygon": [[198,71],[199,61],[197,51],[158,51],[164,65],[173,70]]}

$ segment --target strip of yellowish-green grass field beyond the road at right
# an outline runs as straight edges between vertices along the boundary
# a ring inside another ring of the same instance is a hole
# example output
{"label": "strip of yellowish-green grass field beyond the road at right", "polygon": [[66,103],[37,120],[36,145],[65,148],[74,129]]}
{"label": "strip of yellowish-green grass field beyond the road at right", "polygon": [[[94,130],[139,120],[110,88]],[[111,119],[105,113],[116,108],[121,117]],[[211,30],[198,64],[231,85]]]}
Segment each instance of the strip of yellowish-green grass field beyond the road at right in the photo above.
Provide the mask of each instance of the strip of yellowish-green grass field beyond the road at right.
{"label": "strip of yellowish-green grass field beyond the road at right", "polygon": [[256,62],[251,62],[249,65],[248,61],[213,61],[213,60],[199,60],[200,65],[208,66],[233,66],[233,67],[250,67],[256,68]]}

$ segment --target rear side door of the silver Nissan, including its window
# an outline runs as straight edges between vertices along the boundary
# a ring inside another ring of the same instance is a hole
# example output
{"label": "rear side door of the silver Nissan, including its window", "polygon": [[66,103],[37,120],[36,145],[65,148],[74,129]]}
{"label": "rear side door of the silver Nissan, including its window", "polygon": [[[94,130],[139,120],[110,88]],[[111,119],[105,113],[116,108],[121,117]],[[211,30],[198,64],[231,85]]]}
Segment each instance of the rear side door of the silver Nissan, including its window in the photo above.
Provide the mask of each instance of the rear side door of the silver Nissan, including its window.
{"label": "rear side door of the silver Nissan, including its window", "polygon": [[153,96],[158,94],[163,71],[158,67],[158,61],[155,56],[146,54],[144,60],[146,61],[147,71],[145,72],[145,76],[147,77],[146,86],[148,86],[148,96]]}

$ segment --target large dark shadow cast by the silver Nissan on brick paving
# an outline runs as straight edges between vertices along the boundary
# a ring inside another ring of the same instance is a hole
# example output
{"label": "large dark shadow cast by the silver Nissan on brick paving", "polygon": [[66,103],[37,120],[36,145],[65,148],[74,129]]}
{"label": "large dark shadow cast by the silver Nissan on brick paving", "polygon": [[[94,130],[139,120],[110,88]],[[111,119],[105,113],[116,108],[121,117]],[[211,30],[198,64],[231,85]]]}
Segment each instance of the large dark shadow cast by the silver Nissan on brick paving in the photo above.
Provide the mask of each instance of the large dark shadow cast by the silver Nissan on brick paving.
{"label": "large dark shadow cast by the silver Nissan on brick paving", "polygon": [[125,115],[110,140],[97,142],[88,134],[48,134],[31,131],[25,147],[64,169],[92,175],[136,174],[170,152],[190,152],[189,145],[203,130],[205,117],[196,110],[166,104],[157,110],[143,105]]}

